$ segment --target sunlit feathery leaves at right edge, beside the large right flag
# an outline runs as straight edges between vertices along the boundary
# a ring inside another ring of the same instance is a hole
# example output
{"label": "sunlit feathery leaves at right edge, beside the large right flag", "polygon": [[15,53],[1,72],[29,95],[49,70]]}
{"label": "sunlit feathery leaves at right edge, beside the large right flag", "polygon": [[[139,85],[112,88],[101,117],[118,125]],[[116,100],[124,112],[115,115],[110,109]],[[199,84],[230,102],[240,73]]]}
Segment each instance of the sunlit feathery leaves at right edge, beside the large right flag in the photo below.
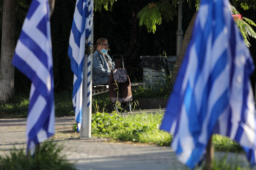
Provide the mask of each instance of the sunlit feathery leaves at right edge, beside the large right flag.
{"label": "sunlit feathery leaves at right edge, beside the large right flag", "polygon": [[244,37],[245,44],[247,47],[250,47],[249,36],[256,38],[256,32],[252,27],[250,27],[250,25],[256,26],[256,24],[246,17],[241,17],[241,14],[236,10],[234,6],[230,6],[230,8],[234,16],[235,23],[238,26],[242,36]]}

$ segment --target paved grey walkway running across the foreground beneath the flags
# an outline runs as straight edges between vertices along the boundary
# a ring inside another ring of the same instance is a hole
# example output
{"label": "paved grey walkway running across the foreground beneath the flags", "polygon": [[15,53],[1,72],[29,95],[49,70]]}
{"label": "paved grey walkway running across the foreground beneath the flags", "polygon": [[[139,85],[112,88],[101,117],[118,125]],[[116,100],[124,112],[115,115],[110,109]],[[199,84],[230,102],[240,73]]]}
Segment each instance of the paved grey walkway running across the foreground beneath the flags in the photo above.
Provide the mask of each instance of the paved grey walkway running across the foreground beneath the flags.
{"label": "paved grey walkway running across the foreground beneath the flags", "polygon": [[[55,118],[55,140],[64,145],[63,153],[78,170],[185,170],[171,147],[113,143],[105,139],[80,139],[72,132],[74,117]],[[0,154],[16,148],[26,148],[26,119],[0,119]],[[215,153],[220,157],[223,153]],[[244,155],[229,154],[247,165]]]}

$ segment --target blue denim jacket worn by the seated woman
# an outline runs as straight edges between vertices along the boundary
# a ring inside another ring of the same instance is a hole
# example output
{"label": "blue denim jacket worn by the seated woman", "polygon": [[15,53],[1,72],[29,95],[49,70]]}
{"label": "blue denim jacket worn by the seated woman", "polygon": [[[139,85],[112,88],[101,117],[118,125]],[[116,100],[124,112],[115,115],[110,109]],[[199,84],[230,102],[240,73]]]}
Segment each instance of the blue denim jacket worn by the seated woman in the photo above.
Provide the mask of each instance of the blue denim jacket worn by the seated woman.
{"label": "blue denim jacket worn by the seated woman", "polygon": [[[109,62],[115,68],[115,64],[112,63],[111,57],[108,54],[105,54],[105,57],[108,58]],[[93,85],[108,84],[109,77],[110,69],[108,63],[99,50],[96,50],[93,53]]]}

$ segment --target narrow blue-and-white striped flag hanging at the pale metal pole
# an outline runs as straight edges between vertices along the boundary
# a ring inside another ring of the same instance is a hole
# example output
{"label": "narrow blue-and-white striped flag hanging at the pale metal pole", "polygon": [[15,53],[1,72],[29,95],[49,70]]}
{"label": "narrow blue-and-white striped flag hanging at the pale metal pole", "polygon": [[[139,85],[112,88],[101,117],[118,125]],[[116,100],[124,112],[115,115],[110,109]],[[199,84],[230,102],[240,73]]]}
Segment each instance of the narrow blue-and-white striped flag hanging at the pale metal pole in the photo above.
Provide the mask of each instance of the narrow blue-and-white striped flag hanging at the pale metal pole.
{"label": "narrow blue-and-white striped flag hanging at the pale metal pole", "polygon": [[[90,105],[91,84],[91,56],[84,55],[85,44],[91,43],[93,26],[93,0],[76,0],[76,8],[70,33],[68,56],[70,57],[71,70],[74,73],[73,80],[73,106],[75,119],[78,122],[78,131],[82,122],[82,91],[87,93],[87,107]],[[84,57],[87,57],[87,68],[84,68]],[[83,73],[87,69],[87,87],[83,89]]]}

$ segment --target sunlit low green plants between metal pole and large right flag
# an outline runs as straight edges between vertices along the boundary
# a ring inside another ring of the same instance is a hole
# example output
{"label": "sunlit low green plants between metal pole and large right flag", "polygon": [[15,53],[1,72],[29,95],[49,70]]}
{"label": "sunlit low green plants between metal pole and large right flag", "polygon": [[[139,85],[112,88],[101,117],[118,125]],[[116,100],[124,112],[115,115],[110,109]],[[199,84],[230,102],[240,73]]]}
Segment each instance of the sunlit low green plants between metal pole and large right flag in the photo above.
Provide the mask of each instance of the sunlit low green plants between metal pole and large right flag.
{"label": "sunlit low green plants between metal pole and large right flag", "polygon": [[92,117],[92,133],[94,136],[121,141],[169,146],[172,135],[159,130],[162,118],[163,113],[143,113],[133,116],[96,113]]}

